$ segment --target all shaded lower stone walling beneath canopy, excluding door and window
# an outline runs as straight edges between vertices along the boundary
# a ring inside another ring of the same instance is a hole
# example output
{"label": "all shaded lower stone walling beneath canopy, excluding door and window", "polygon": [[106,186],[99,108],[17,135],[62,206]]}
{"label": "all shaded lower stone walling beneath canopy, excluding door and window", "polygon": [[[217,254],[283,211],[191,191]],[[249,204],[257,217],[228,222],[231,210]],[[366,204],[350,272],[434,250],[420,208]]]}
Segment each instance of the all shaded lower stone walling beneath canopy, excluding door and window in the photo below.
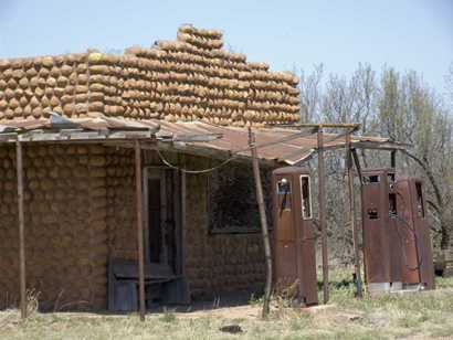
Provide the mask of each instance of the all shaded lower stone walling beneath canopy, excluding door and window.
{"label": "all shaded lower stone walling beneath canopy, excluding door and window", "polygon": [[[187,167],[201,168],[200,158]],[[134,152],[101,146],[25,146],[28,288],[43,309],[104,309],[108,256],[136,258]],[[186,270],[192,296],[264,280],[260,234],[210,235],[207,178],[187,177]],[[0,308],[19,290],[14,147],[0,148]]]}

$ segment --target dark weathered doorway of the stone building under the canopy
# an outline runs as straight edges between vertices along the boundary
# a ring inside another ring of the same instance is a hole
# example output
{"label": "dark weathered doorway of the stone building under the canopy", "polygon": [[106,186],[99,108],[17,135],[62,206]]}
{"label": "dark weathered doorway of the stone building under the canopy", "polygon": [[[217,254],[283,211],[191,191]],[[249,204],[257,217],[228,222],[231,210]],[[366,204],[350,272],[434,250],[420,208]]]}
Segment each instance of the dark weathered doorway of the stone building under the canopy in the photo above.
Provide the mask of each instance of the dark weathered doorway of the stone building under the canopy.
{"label": "dark weathered doorway of the stone building under the canopy", "polygon": [[[188,287],[182,273],[180,173],[169,168],[144,169],[144,232],[146,268],[159,289],[150,300],[186,304]],[[158,278],[158,279],[157,279]]]}

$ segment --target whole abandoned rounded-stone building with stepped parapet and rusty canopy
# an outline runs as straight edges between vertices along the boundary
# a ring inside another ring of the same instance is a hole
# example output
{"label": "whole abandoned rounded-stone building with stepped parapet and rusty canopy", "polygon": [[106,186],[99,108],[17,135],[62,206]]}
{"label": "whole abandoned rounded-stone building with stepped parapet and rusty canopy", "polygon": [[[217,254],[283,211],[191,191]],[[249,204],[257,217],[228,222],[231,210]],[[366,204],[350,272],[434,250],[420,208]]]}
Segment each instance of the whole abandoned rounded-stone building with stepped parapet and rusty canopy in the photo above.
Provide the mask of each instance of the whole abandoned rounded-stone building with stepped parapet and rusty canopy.
{"label": "whole abandoned rounded-stone building with stepped parapet and rusty canopy", "polygon": [[[182,26],[175,42],[124,55],[0,61],[0,308],[19,298],[17,140],[27,289],[42,309],[105,309],[115,295],[112,264],[134,267],[131,140],[143,149],[145,262],[155,279],[148,301],[175,281],[179,301],[261,288],[264,255],[245,126],[259,145],[271,145],[260,150],[266,192],[271,170],[308,157],[316,140],[265,127],[298,120],[297,78],[222,44],[218,31]],[[182,171],[221,164],[208,173]]]}

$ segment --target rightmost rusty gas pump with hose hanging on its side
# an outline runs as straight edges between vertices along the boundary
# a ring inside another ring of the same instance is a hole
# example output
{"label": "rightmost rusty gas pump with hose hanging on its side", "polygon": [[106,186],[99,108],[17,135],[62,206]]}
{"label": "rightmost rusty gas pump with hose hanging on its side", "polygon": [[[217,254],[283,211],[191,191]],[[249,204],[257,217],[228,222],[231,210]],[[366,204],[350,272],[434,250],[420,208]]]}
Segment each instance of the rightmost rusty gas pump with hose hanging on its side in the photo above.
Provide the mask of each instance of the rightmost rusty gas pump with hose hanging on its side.
{"label": "rightmost rusty gas pump with hose hanging on its side", "polygon": [[398,178],[397,193],[403,286],[405,289],[434,289],[434,265],[425,219],[423,182],[415,177]]}

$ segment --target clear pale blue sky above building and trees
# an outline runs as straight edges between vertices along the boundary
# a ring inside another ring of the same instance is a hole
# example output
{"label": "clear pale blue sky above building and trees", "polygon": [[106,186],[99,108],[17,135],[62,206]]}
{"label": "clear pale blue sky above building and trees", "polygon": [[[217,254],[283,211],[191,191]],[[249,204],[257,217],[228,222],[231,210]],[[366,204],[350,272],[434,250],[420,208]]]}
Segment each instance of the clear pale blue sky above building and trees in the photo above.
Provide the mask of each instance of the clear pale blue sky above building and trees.
{"label": "clear pale blue sky above building and trees", "polygon": [[0,0],[0,57],[123,50],[175,39],[181,23],[219,29],[273,70],[349,75],[359,62],[415,70],[440,93],[453,62],[453,0]]}

